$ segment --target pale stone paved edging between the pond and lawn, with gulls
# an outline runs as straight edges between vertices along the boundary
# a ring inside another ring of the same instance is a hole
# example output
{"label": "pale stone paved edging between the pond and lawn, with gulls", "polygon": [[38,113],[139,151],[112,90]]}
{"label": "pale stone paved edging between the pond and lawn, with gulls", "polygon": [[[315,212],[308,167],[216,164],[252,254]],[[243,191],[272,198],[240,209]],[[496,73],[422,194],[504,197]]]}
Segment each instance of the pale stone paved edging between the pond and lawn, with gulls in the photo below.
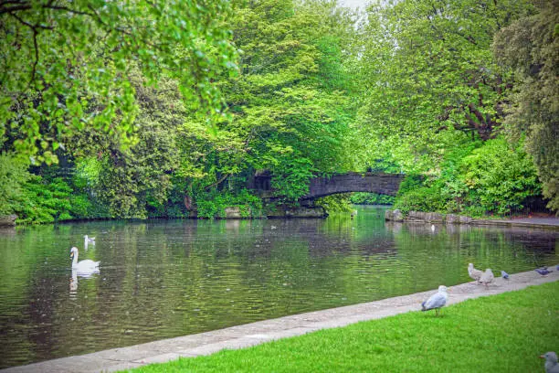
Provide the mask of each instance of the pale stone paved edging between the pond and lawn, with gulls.
{"label": "pale stone paved edging between the pond and lawn, with gulls", "polygon": [[[551,272],[546,276],[530,271],[512,274],[510,280],[496,278],[488,288],[475,282],[466,282],[450,287],[448,304],[457,304],[468,299],[521,290],[530,285],[558,280],[559,271]],[[421,302],[435,292],[432,290],[307,314],[294,314],[192,336],[179,336],[142,345],[47,360],[22,367],[7,368],[2,372],[111,372],[162,363],[179,357],[210,355],[226,348],[255,346],[284,337],[301,336],[316,330],[418,311],[421,308]],[[443,314],[451,312],[451,309],[444,310]]]}

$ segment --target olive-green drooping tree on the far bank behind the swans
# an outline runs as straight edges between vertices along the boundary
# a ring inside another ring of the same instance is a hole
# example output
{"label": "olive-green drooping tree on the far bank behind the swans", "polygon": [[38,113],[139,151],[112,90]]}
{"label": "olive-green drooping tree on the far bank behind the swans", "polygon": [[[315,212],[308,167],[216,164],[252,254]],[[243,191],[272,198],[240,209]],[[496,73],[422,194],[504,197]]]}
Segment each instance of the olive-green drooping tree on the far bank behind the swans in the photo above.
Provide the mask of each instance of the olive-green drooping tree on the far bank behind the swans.
{"label": "olive-green drooping tree on the far bank behind the swans", "polygon": [[146,218],[148,203],[167,202],[172,177],[182,156],[178,129],[187,115],[176,81],[162,78],[149,87],[141,71],[128,75],[138,102],[137,141],[122,149],[120,139],[101,130],[85,129],[67,140],[68,153],[79,163],[95,163],[92,194],[119,218]]}

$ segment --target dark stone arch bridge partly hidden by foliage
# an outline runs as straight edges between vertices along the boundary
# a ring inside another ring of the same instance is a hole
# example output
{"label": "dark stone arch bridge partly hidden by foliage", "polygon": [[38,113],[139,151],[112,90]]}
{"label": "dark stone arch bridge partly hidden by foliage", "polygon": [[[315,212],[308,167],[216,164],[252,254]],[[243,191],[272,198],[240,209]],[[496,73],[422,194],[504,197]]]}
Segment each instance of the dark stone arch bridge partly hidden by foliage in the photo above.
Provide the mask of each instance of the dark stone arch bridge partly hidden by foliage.
{"label": "dark stone arch bridge partly hidden by foliage", "polygon": [[[368,192],[388,196],[396,196],[400,183],[404,179],[403,174],[383,173],[347,173],[337,174],[329,177],[311,178],[309,193],[301,197],[301,200],[312,200],[339,193]],[[271,197],[271,176],[262,174],[255,176],[249,187],[258,190],[261,196]]]}

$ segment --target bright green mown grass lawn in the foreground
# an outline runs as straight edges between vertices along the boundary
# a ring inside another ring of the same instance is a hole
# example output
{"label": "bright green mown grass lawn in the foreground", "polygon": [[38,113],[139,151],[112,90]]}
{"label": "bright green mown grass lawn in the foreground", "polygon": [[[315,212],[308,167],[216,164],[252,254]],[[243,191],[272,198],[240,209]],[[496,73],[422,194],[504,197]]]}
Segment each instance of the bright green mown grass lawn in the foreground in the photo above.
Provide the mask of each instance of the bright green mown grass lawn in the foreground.
{"label": "bright green mown grass lawn in the foreground", "polygon": [[327,329],[140,372],[543,372],[559,352],[559,282]]}

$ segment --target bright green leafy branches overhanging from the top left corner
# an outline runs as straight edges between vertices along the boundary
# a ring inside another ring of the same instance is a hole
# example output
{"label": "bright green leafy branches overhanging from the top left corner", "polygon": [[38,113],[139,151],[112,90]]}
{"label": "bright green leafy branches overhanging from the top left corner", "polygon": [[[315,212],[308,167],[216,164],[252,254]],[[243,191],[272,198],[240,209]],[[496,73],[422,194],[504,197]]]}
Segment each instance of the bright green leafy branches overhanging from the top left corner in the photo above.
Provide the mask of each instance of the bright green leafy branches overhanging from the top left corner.
{"label": "bright green leafy branches overhanging from the top left corner", "polygon": [[223,113],[214,80],[235,70],[227,2],[0,2],[0,145],[55,162],[62,137],[90,127],[133,143],[127,79],[167,73],[206,120]]}

